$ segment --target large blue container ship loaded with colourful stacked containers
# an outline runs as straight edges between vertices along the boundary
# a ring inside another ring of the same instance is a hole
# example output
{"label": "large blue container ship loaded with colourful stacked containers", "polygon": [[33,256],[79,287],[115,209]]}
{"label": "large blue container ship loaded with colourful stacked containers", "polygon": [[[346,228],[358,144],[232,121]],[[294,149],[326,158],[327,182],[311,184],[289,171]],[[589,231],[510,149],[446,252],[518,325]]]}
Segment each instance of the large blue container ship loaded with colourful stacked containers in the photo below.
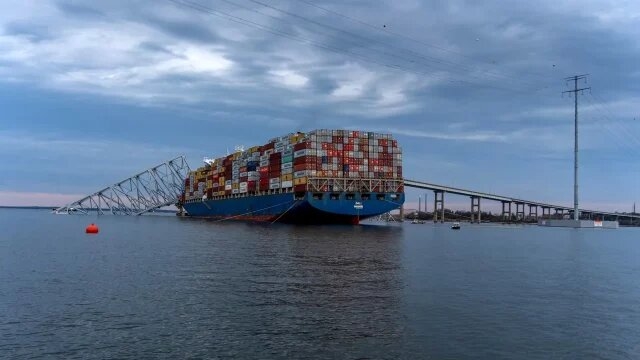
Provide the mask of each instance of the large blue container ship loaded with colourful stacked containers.
{"label": "large blue container ship loaded with colourful stacked containers", "polygon": [[390,134],[291,133],[208,159],[184,180],[193,217],[359,224],[404,203],[402,152]]}

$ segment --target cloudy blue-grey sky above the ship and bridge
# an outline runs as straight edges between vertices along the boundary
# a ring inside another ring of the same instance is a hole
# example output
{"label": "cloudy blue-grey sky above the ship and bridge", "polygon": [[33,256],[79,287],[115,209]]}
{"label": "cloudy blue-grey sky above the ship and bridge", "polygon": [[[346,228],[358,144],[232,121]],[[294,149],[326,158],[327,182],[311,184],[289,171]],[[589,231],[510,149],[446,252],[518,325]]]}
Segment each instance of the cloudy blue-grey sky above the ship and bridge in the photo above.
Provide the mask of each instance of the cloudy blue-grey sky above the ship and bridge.
{"label": "cloudy blue-grey sky above the ship and bridge", "polygon": [[[639,23],[636,1],[3,1],[0,205],[317,128],[393,134],[407,179],[571,205],[562,92],[589,74],[581,207],[630,211]],[[412,189],[407,207],[418,196],[432,209]]]}

